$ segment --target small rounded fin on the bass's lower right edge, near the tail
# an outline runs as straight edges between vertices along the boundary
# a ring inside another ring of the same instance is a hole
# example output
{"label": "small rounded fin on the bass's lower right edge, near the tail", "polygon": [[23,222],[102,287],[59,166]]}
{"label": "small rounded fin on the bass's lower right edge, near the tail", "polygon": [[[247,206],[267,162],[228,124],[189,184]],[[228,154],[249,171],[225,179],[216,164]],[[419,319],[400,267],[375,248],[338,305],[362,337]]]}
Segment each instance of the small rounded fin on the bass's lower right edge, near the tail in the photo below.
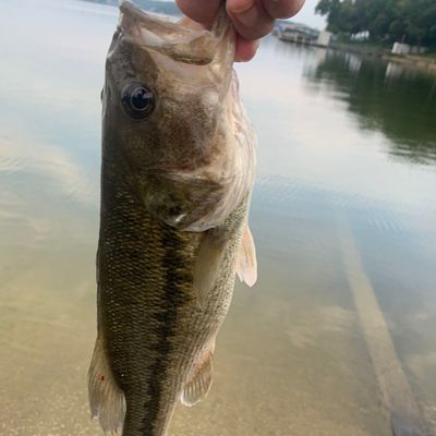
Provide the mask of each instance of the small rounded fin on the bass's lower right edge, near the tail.
{"label": "small rounded fin on the bass's lower right edge, near the tail", "polygon": [[181,397],[182,404],[192,407],[206,398],[214,377],[211,355],[213,349],[207,350],[195,365],[190,378],[184,385]]}

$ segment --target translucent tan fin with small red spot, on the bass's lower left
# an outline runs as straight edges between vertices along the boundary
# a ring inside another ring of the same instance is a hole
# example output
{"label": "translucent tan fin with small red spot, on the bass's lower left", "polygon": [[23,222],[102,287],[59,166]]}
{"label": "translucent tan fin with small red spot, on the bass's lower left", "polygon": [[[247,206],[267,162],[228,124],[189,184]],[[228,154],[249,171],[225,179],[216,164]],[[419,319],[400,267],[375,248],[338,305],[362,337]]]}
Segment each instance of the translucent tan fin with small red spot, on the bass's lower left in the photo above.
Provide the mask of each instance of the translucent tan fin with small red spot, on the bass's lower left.
{"label": "translucent tan fin with small red spot, on the bass's lower left", "polygon": [[97,337],[88,371],[88,399],[90,414],[98,417],[105,434],[122,428],[125,415],[124,393],[113,378],[101,335]]}

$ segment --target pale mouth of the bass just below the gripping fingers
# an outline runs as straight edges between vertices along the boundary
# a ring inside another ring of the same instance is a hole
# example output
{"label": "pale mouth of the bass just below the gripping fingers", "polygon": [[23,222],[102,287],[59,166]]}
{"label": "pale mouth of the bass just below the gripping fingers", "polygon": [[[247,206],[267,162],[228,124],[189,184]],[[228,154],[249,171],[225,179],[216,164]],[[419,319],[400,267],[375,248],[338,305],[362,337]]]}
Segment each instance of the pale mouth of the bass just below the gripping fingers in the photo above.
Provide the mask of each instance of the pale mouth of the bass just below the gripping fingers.
{"label": "pale mouth of the bass just below the gripping fingers", "polygon": [[183,25],[186,19],[172,23],[146,13],[128,0],[120,2],[120,11],[119,27],[129,41],[178,62],[206,65],[214,60],[219,39],[211,32]]}

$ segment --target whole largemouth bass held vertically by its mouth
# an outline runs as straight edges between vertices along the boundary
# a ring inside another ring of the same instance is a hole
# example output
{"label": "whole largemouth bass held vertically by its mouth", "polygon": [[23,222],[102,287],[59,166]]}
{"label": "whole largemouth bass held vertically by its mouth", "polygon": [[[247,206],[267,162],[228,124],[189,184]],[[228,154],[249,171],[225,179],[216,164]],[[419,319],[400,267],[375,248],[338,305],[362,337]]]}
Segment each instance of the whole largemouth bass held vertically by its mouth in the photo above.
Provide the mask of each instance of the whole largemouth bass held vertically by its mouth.
{"label": "whole largemouth bass held vertically by its mouth", "polygon": [[235,274],[256,281],[255,141],[223,8],[210,32],[120,10],[101,95],[89,404],[105,433],[165,436],[177,403],[210,389]]}

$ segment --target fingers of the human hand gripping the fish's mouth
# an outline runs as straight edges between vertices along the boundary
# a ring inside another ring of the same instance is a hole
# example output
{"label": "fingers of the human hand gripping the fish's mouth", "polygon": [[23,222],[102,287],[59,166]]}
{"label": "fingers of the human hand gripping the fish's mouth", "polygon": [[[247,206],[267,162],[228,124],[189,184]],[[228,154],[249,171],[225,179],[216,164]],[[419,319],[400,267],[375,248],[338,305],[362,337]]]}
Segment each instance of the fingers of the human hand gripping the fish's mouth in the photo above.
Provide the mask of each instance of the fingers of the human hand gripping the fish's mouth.
{"label": "fingers of the human hand gripping the fish's mouth", "polygon": [[[210,27],[222,0],[175,0],[190,19]],[[289,19],[305,0],[227,0],[226,8],[238,33],[237,61],[249,61],[256,53],[259,38],[274,27],[276,19]]]}

